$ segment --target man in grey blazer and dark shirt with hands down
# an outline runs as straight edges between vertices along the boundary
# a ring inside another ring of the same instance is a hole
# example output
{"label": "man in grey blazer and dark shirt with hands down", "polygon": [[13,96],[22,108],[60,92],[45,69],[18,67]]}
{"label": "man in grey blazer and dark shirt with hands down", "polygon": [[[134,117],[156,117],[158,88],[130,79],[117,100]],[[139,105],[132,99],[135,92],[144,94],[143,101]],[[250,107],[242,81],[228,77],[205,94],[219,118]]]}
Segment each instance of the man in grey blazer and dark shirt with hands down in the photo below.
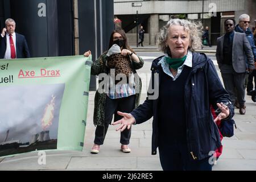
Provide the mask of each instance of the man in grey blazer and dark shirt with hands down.
{"label": "man in grey blazer and dark shirt with hands down", "polygon": [[[245,76],[246,69],[254,69],[254,57],[245,34],[234,31],[234,19],[224,22],[226,34],[217,39],[216,58],[225,89],[228,91],[232,104],[237,99],[240,114],[245,114]],[[247,59],[247,67],[246,67]]]}

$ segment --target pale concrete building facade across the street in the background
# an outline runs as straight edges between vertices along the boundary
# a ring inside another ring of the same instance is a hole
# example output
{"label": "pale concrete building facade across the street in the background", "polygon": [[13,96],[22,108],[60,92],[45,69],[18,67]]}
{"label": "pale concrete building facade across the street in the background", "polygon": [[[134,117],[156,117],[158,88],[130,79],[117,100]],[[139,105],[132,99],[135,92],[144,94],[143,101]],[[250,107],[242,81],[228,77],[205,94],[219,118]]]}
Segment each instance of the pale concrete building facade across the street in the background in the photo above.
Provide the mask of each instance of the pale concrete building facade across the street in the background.
{"label": "pale concrete building facade across the street in the background", "polygon": [[142,24],[146,30],[144,41],[150,45],[156,44],[159,29],[171,16],[201,20],[204,27],[209,27],[214,45],[217,37],[224,34],[223,22],[226,18],[234,18],[238,22],[238,17],[246,13],[251,16],[251,27],[255,26],[255,7],[254,0],[114,0],[114,14],[122,20],[122,28],[129,34],[130,43],[136,44],[136,26]]}

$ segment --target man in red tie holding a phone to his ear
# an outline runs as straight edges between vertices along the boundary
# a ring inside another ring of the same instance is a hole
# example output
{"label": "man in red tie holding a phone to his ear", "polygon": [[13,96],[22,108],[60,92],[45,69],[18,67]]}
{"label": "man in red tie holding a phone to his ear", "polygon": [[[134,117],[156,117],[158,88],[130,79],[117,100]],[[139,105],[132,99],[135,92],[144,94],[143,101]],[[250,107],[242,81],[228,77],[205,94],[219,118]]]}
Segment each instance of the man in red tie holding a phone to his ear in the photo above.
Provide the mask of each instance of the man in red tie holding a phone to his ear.
{"label": "man in red tie holding a phone to his ear", "polygon": [[15,32],[16,23],[9,18],[0,36],[0,59],[16,59],[30,57],[24,35]]}

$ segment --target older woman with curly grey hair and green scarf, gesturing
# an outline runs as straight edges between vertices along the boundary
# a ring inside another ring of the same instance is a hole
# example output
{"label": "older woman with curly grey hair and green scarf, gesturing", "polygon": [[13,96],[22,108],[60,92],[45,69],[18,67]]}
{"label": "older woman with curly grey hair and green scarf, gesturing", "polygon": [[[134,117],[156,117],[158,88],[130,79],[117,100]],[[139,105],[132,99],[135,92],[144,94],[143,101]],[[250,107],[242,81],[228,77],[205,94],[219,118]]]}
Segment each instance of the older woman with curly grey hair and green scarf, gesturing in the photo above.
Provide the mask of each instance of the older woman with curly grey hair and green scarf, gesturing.
{"label": "older woman with curly grey hair and green scarf, gesturing", "polygon": [[[212,60],[193,52],[201,47],[201,24],[171,19],[160,31],[159,48],[166,55],[152,63],[151,83],[158,97],[148,98],[123,118],[117,130],[153,119],[152,155],[159,148],[164,170],[211,170],[221,146],[217,120],[232,122],[234,109]],[[223,104],[225,103],[225,104]],[[210,105],[220,109],[213,119]]]}

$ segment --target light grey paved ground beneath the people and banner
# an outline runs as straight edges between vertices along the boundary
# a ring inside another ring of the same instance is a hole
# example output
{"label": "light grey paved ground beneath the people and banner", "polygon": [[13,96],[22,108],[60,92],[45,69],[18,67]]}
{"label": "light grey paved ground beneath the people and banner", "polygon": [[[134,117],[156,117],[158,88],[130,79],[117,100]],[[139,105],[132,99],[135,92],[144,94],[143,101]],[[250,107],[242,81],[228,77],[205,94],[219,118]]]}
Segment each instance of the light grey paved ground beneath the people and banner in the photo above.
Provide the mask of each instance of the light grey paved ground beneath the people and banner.
{"label": "light grey paved ground beneath the people and banner", "polygon": [[[211,50],[208,49],[208,51]],[[143,55],[142,52],[138,54]],[[152,58],[150,60],[145,57],[144,67],[138,70],[139,75],[144,79],[141,103],[146,98],[151,61]],[[216,64],[216,60],[214,63]],[[218,74],[220,74],[219,71]],[[45,160],[40,158],[38,151],[0,158],[0,170],[162,171],[159,155],[151,155],[152,119],[132,127],[130,153],[125,154],[120,151],[120,133],[115,131],[116,126],[110,126],[100,153],[90,154],[95,131],[94,94],[95,92],[89,93],[83,151],[45,151]],[[223,153],[217,165],[214,165],[214,171],[256,170],[256,103],[250,96],[246,96],[246,106],[245,115],[240,115],[239,110],[235,110],[234,120],[237,129],[234,130],[233,137],[224,138],[222,141]]]}

